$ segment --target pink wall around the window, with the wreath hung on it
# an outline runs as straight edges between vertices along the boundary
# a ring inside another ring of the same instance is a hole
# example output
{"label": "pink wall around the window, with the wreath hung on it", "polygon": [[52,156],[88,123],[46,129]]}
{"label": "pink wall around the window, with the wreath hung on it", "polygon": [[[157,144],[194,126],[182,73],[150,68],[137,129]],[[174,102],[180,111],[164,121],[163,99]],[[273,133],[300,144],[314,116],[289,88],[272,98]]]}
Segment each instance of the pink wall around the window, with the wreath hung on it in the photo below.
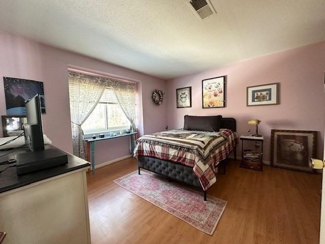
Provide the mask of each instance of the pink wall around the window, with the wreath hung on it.
{"label": "pink wall around the window, with the wreath hung on it", "polygon": [[[166,89],[166,82],[139,72],[114,66],[100,60],[64,51],[0,32],[0,115],[6,114],[3,76],[44,82],[46,114],[44,133],[53,144],[72,152],[68,88],[68,66],[102,72],[138,82],[139,132],[147,134],[164,130],[167,125],[166,103],[155,106],[151,91]],[[0,137],[2,131],[0,131]],[[96,164],[129,155],[126,138],[96,143]]]}

